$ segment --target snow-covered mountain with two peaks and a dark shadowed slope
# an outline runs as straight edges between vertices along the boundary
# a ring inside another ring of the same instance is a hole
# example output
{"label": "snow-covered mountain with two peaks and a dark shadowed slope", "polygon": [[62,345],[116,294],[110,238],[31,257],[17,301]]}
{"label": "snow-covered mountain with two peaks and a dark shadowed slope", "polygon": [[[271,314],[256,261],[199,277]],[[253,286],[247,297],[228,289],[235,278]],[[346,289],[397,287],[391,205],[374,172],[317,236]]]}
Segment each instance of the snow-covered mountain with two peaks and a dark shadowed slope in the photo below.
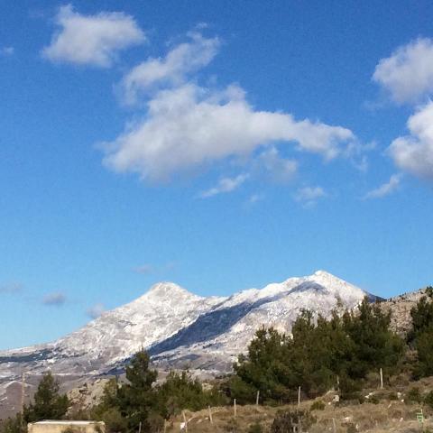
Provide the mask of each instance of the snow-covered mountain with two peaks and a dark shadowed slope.
{"label": "snow-covered mountain with two peaks and a dark shadowed slope", "polygon": [[0,352],[0,408],[10,400],[3,400],[5,394],[16,394],[22,373],[32,383],[50,368],[70,387],[121,369],[142,347],[161,368],[188,365],[224,372],[258,327],[290,332],[301,309],[327,315],[337,299],[352,309],[365,295],[369,294],[323,271],[226,298],[203,298],[161,282],[60,340]]}

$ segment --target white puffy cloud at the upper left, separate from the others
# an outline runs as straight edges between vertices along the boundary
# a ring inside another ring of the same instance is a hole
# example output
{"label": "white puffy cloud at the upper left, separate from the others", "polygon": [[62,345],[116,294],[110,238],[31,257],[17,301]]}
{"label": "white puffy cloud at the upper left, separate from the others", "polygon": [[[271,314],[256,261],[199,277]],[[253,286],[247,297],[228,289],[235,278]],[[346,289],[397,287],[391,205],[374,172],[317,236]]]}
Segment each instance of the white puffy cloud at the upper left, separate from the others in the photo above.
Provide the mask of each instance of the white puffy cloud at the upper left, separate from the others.
{"label": "white puffy cloud at the upper left, separate from the others", "polygon": [[107,68],[118,51],[146,40],[143,31],[130,15],[101,12],[83,15],[72,5],[60,7],[56,17],[60,27],[42,55],[52,61]]}

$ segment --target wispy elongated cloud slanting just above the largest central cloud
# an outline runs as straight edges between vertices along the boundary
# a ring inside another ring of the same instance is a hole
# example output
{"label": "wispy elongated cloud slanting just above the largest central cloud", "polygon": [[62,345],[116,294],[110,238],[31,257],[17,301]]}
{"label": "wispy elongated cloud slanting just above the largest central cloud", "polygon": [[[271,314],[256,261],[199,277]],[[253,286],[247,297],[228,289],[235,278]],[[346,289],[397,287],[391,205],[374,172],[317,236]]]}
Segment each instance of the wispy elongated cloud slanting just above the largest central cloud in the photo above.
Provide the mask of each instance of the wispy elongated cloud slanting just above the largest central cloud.
{"label": "wispy elongated cloud slanting just above the largest central cloud", "polygon": [[174,47],[163,59],[148,59],[131,69],[121,83],[126,104],[134,104],[144,91],[157,84],[179,86],[191,72],[206,66],[216,55],[220,42],[204,38],[198,32],[189,33],[189,42]]}

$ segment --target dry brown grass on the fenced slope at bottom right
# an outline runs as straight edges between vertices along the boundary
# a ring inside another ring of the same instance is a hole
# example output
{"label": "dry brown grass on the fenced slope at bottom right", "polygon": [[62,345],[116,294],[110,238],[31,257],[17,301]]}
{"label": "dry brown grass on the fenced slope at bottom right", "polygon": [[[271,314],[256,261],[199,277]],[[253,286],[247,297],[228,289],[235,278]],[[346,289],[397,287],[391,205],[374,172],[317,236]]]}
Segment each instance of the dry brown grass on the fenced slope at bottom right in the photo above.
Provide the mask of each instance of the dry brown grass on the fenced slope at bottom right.
{"label": "dry brown grass on the fenced slope at bottom right", "polygon": [[[355,431],[368,433],[419,433],[423,431],[416,419],[416,413],[420,409],[419,403],[408,403],[401,400],[390,400],[395,398],[397,391],[408,392],[410,388],[418,386],[421,392],[433,390],[433,378],[417,383],[411,383],[410,386],[402,390],[401,386],[393,389],[375,391],[372,395],[376,396],[377,404],[364,402],[363,404],[353,403],[348,405],[332,403],[333,393],[328,393],[322,398],[326,402],[324,410],[313,410],[317,423],[309,428],[309,433],[324,433],[334,431],[334,421],[336,422],[336,433],[351,433]],[[365,392],[366,395],[368,392]],[[393,394],[393,396],[392,396]],[[313,401],[303,401],[300,404],[301,410],[309,410]],[[258,423],[264,432],[269,432],[272,421],[278,410],[296,409],[296,406],[281,406],[273,408],[269,406],[238,406],[237,415],[234,416],[233,407],[212,408],[213,424],[208,418],[208,411],[201,410],[198,412],[186,411],[188,419],[189,433],[218,433],[234,432],[247,433],[253,424]],[[427,407],[423,408],[426,416],[424,431],[433,432],[433,410]],[[170,420],[167,425],[167,432],[181,431],[180,424],[182,416]],[[430,429],[430,430],[429,430]]]}

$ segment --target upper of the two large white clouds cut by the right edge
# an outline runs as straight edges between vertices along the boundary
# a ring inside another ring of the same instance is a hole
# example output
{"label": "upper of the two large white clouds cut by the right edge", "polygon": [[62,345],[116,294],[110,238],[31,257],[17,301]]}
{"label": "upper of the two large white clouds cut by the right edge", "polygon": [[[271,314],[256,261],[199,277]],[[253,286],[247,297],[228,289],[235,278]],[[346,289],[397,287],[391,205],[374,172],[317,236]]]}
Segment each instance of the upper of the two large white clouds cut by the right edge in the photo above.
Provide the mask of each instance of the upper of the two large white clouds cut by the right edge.
{"label": "upper of the two large white clouds cut by the right edge", "polygon": [[416,102],[433,92],[433,41],[418,39],[379,61],[373,80],[399,103]]}

